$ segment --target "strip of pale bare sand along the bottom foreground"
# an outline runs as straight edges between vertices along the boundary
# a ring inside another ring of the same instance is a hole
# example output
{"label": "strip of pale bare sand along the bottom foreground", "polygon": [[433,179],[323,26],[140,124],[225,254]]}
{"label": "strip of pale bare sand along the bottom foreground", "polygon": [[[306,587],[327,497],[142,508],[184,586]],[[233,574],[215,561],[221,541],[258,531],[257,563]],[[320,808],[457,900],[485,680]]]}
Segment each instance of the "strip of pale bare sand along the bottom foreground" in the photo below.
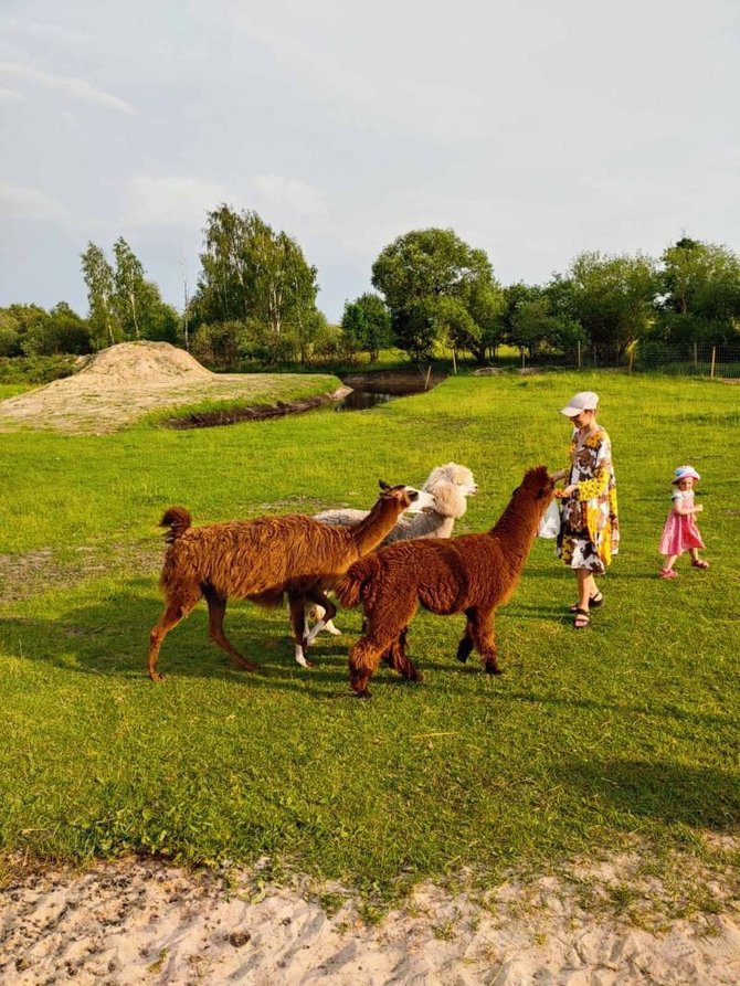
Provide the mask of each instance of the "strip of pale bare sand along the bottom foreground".
{"label": "strip of pale bare sand along the bottom foreground", "polygon": [[[329,915],[297,882],[263,887],[258,869],[224,877],[126,860],[47,871],[0,892],[0,982],[737,986],[737,898],[664,923],[651,899],[658,890],[644,887],[642,912],[616,919],[599,903],[636,869],[623,856],[577,879],[505,883],[475,899],[425,886],[377,924],[341,888],[323,898],[341,904]],[[726,890],[708,883],[718,899]]]}

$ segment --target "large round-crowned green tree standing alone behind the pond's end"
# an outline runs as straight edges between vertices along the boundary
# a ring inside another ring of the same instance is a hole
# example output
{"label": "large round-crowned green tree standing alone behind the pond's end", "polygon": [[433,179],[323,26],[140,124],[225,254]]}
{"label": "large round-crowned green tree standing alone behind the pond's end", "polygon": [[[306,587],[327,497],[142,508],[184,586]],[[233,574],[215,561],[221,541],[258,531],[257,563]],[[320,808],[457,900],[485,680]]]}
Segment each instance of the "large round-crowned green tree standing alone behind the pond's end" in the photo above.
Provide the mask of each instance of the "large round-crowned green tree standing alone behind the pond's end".
{"label": "large round-crowned green tree standing alone behind the pond's end", "polygon": [[[503,297],[484,251],[452,230],[414,230],[382,251],[372,265],[372,285],[385,298],[399,346],[412,358],[430,359],[435,343],[446,339],[464,341],[485,360]],[[457,304],[440,306],[443,298]]]}

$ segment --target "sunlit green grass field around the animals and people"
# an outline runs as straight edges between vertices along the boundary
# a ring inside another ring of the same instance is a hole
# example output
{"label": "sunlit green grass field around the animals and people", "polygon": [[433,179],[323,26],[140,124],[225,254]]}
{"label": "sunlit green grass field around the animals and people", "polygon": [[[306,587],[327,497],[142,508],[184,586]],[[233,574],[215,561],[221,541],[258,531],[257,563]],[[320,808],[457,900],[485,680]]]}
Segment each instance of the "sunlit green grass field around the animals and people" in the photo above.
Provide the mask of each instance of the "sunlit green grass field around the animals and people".
{"label": "sunlit green grass field around the animals and people", "polygon": [[[604,607],[577,634],[572,576],[538,541],[497,621],[503,677],[454,660],[459,617],[420,614],[422,686],[383,670],[349,697],[340,613],[299,669],[284,612],[232,603],[244,675],[201,605],[167,638],[158,521],[369,507],[379,477],[454,459],[480,492],[458,532],[497,519],[525,469],[565,464],[577,390],[602,395],[623,548]],[[6,860],[127,851],[187,862],[269,857],[390,894],[414,880],[500,876],[639,841],[667,876],[740,825],[737,554],[739,393],[617,373],[451,378],[373,411],[191,432],[0,435],[0,839]],[[675,466],[702,475],[708,572],[657,577]],[[684,860],[677,867],[676,860]],[[699,894],[700,897],[700,894]],[[701,901],[695,901],[701,905]]]}

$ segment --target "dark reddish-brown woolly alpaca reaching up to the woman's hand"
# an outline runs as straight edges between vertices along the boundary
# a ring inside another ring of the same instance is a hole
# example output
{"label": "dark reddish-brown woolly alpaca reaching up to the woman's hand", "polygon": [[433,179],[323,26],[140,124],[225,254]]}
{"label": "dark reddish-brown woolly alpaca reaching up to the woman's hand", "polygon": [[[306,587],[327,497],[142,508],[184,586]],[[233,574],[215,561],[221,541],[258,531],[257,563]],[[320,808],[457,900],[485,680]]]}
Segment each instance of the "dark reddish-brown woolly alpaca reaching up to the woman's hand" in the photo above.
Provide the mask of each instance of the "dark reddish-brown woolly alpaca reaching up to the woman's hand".
{"label": "dark reddish-brown woolly alpaca reaching up to the woman's hand", "polygon": [[358,696],[369,695],[370,678],[387,653],[399,674],[421,680],[405,654],[406,630],[420,604],[441,616],[465,613],[457,659],[466,661],[475,648],[486,671],[500,674],[494,613],[514,595],[552,490],[547,468],[537,466],[490,531],[448,541],[399,541],[348,570],[335,592],[343,606],[364,605],[363,636],[349,653],[350,683]]}

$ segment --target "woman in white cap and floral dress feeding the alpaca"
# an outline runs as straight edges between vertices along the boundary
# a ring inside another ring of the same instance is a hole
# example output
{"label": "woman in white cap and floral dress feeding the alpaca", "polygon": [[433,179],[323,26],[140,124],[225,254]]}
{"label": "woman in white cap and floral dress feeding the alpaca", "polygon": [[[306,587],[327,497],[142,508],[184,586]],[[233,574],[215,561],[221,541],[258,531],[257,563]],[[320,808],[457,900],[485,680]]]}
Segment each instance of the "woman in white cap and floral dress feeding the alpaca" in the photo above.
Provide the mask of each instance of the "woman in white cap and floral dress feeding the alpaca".
{"label": "woman in white cap and floral dress feeding the alpaca", "polygon": [[596,423],[598,406],[599,394],[583,391],[561,409],[573,424],[571,465],[552,477],[556,481],[569,477],[568,486],[556,490],[562,501],[557,554],[575,572],[578,602],[571,606],[575,629],[586,627],[589,611],[604,602],[595,576],[604,574],[620,543],[612,443]]}

